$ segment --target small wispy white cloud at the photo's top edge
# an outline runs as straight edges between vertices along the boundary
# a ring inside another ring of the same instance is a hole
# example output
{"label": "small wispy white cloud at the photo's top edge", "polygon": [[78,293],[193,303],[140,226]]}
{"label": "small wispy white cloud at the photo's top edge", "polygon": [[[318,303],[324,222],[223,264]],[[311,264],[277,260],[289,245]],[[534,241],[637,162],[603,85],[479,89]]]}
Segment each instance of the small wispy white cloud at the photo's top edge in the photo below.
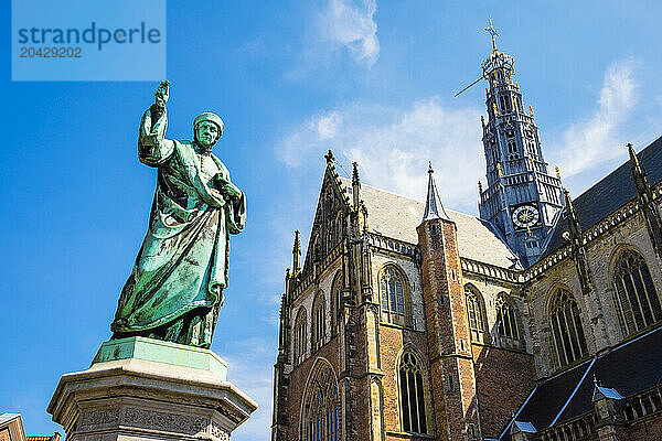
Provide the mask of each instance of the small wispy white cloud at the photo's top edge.
{"label": "small wispy white cloud at the photo's top edge", "polygon": [[354,61],[371,67],[380,56],[375,0],[330,0],[318,17],[322,40],[346,47]]}

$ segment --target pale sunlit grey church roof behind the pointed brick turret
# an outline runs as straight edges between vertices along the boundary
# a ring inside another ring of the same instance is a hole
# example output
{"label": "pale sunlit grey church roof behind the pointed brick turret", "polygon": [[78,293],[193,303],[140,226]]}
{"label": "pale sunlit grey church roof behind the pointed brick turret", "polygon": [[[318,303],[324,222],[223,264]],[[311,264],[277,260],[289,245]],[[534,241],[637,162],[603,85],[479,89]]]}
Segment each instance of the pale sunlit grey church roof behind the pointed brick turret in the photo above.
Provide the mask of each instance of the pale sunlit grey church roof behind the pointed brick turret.
{"label": "pale sunlit grey church roof behind the pointed brick turret", "polygon": [[[340,178],[343,187],[352,183]],[[348,192],[349,195],[349,192]],[[416,227],[420,225],[425,204],[385,190],[361,184],[361,198],[367,208],[370,232],[393,239],[418,244]],[[517,257],[490,223],[446,208],[458,227],[460,257],[501,268],[520,268]]]}

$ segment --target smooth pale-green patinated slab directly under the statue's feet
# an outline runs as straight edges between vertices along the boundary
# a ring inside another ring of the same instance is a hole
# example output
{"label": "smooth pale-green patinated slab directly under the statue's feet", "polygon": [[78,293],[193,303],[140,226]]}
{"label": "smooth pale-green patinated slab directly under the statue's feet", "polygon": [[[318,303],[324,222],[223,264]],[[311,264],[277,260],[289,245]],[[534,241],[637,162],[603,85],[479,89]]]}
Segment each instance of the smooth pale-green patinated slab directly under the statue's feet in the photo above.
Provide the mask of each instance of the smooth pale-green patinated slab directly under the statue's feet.
{"label": "smooth pale-green patinated slab directly under the statue's feet", "polygon": [[210,349],[140,336],[105,342],[92,364],[126,358],[210,370],[223,380],[227,377],[227,363]]}

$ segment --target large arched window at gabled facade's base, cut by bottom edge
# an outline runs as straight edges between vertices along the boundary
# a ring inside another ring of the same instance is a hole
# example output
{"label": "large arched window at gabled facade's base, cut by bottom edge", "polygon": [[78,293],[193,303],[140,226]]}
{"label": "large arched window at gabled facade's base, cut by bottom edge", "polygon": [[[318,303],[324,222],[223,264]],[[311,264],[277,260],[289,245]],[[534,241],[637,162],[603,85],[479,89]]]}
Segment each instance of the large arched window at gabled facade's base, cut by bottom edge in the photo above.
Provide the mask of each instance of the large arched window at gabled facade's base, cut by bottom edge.
{"label": "large arched window at gabled facade's base, cut by bottom edge", "polygon": [[321,364],[309,384],[303,410],[305,441],[340,441],[338,380],[330,366]]}

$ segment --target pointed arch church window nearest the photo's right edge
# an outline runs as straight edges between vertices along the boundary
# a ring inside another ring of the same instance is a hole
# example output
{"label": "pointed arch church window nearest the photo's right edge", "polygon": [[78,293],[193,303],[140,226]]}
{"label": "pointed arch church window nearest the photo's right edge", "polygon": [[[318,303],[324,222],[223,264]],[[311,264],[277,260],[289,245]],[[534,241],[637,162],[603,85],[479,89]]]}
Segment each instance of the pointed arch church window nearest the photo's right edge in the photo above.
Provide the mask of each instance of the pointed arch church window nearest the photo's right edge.
{"label": "pointed arch church window nearest the photo's right edge", "polygon": [[641,331],[662,320],[660,298],[643,256],[628,249],[613,269],[616,306],[623,335]]}

